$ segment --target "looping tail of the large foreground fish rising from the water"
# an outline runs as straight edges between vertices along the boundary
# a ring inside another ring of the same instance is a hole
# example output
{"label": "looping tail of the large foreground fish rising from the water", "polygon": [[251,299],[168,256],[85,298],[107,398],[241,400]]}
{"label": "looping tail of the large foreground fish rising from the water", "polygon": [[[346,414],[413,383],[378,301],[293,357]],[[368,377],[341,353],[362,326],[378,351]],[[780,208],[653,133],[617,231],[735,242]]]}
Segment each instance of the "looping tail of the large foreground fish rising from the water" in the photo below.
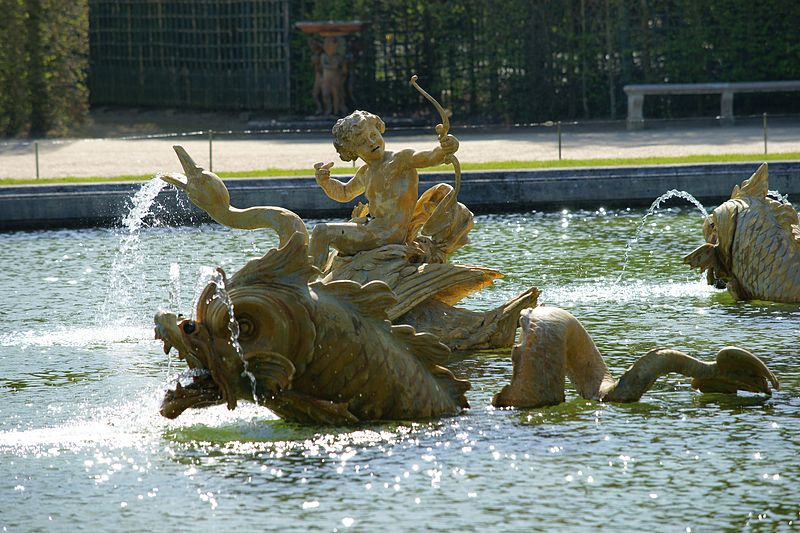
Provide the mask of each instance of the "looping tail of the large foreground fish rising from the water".
{"label": "looping tail of the large foreground fish rising from the water", "polygon": [[635,402],[655,381],[677,372],[693,378],[702,392],[745,390],[771,394],[778,379],[755,355],[735,346],[721,349],[706,363],[678,350],[656,348],[636,361],[619,380],[608,367],[589,333],[569,312],[557,307],[526,309],[520,317],[522,335],[512,351],[511,383],[495,395],[496,407],[541,407],[564,401],[569,377],[586,399]]}

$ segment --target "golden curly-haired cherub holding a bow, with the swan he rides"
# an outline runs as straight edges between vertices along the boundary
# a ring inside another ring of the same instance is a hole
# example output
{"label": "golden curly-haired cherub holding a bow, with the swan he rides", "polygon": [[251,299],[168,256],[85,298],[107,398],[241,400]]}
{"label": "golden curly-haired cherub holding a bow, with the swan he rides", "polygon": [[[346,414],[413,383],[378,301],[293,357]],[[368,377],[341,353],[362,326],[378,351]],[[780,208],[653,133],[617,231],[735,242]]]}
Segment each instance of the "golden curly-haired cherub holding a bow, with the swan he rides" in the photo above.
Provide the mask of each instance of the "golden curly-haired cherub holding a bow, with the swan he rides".
{"label": "golden curly-haired cherub holding a bow, with the swan he rides", "polygon": [[[412,85],[430,98],[415,79]],[[447,117],[436,106],[443,118],[436,128],[439,146],[427,151],[385,150],[383,121],[372,113],[356,111],[336,123],[334,147],[340,156],[348,161],[360,158],[364,164],[342,183],[330,177],[332,163],[318,163],[317,182],[334,200],[345,202],[364,194],[369,203],[357,206],[349,222],[318,224],[310,239],[303,220],[288,209],[231,206],[222,180],[198,166],[180,146],[175,151],[184,174],[161,177],[186,191],[193,203],[221,224],[274,229],[281,246],[294,233],[301,234],[308,246],[306,259],[325,282],[385,283],[395,296],[386,309],[393,323],[435,333],[454,350],[509,347],[519,312],[535,304],[538,291],[531,288],[488,311],[455,307],[502,275],[490,268],[448,261],[467,242],[473,215],[457,201],[460,167],[454,153],[458,140],[448,134]],[[455,187],[440,183],[419,196],[417,168],[444,162],[456,170]],[[331,247],[335,254],[329,254]]]}

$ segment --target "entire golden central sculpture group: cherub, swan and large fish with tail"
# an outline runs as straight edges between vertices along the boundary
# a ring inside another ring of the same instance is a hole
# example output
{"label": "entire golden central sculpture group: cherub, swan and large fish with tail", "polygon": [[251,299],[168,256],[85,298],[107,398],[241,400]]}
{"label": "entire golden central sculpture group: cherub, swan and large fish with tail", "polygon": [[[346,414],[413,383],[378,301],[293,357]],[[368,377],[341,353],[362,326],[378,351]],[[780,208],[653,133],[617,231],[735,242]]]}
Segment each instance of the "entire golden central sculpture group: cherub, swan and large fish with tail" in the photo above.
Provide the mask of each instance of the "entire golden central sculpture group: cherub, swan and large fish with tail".
{"label": "entire golden central sculpture group: cherub, swan and large fish with tail", "polygon": [[[770,385],[778,387],[766,365],[741,348],[720,351],[712,364],[657,350],[612,380],[572,315],[527,309],[536,305],[535,287],[488,312],[456,307],[501,276],[448,260],[473,227],[472,213],[457,201],[458,141],[416,76],[411,84],[442,117],[439,146],[389,151],[376,115],[356,111],[340,119],[333,127],[336,150],[343,160],[360,158],[364,165],[342,183],[331,178],[332,163],[317,163],[317,182],[334,200],[364,193],[369,204],[356,206],[349,222],[318,224],[310,238],[291,211],[231,206],[222,180],[175,147],[184,174],[161,179],[223,224],[275,230],[280,247],[250,261],[230,282],[222,276],[205,290],[224,294],[222,305],[201,296],[194,320],[156,315],[165,352],[174,347],[190,369],[207,371],[167,392],[164,416],[215,404],[233,410],[240,399],[305,424],[452,416],[469,407],[470,385],[446,367],[451,351],[510,347],[521,313],[528,318],[514,349],[512,384],[495,397],[497,406],[560,403],[565,375],[584,397],[608,401],[637,401],[670,372],[691,376],[702,391],[769,395]],[[443,162],[454,166],[455,186],[439,184],[420,196],[416,169]]]}

